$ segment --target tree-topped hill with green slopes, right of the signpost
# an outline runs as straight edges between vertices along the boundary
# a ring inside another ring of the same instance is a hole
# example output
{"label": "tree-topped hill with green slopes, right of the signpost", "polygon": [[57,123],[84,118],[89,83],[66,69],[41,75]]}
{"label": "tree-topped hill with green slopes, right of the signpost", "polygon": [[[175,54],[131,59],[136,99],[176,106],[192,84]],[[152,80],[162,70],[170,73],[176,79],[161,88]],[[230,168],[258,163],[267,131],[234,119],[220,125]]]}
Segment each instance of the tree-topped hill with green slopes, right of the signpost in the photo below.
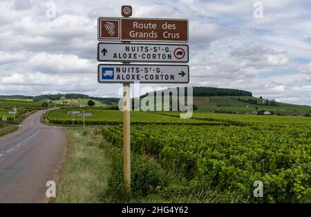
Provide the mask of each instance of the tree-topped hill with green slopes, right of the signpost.
{"label": "tree-topped hill with green slopes, right of the signpost", "polygon": [[[174,90],[179,92],[178,87],[173,88]],[[153,92],[153,94],[169,94],[171,96],[171,92],[172,89],[170,91],[166,89]],[[152,92],[149,94],[152,95]],[[145,96],[147,94],[140,96],[140,98],[142,99]],[[194,110],[197,112],[251,114],[256,111],[259,114],[270,112],[279,115],[305,115],[311,113],[311,106],[281,103],[276,102],[274,99],[256,98],[252,96],[252,92],[245,90],[194,87],[193,96]],[[172,101],[171,97],[170,99]]]}

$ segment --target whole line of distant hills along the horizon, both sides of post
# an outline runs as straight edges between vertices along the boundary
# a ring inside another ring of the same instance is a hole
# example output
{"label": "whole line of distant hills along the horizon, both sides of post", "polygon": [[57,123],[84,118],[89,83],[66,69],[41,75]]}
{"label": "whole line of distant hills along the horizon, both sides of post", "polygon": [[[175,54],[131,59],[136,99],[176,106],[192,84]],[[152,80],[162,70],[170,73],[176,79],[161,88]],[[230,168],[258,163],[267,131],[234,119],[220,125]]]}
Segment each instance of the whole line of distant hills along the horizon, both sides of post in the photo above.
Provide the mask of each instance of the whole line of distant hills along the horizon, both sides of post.
{"label": "whole line of distant hills along the horizon, both sides of post", "polygon": [[[174,88],[179,92],[179,88]],[[216,87],[194,87],[194,109],[196,112],[214,112],[214,113],[239,113],[251,114],[252,112],[271,112],[279,115],[305,115],[311,113],[311,106],[294,105],[288,103],[277,102],[274,99],[262,99],[252,96],[252,92],[245,90],[216,88]],[[156,94],[167,90],[160,90]],[[187,94],[187,91],[186,91]],[[171,95],[171,94],[170,94]],[[140,99],[147,96],[144,94]],[[173,96],[176,97],[176,96]],[[88,100],[95,101],[95,106],[115,106],[120,98],[104,98],[96,96],[88,96],[86,94],[44,94],[39,96],[0,96],[3,102],[1,105],[16,104],[12,101],[21,101],[23,104],[35,102],[41,105],[42,102],[53,103],[54,105],[66,106],[85,106]],[[171,98],[172,100],[172,98]]]}

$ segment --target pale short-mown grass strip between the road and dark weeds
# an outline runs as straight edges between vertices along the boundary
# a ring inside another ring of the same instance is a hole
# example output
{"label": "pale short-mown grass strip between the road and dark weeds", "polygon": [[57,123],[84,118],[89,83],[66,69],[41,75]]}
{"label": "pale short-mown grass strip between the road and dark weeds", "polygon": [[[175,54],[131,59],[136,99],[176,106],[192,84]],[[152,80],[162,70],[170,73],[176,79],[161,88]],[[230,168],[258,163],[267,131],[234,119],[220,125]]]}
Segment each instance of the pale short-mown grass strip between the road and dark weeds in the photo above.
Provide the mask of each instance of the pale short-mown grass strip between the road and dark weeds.
{"label": "pale short-mown grass strip between the road and dark weeds", "polygon": [[102,203],[110,164],[99,127],[66,127],[68,151],[53,203]]}

